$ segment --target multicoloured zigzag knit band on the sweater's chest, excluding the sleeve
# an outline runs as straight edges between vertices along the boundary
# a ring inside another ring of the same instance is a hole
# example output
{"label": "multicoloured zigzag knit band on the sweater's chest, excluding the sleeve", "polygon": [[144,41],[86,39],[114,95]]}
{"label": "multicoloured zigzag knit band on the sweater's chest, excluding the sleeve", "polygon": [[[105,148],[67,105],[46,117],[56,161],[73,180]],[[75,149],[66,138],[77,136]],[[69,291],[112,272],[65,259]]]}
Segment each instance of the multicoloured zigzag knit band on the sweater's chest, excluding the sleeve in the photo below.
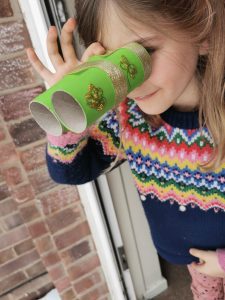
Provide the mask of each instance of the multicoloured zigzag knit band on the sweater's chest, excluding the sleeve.
{"label": "multicoloured zigzag knit band on the sweater's chest, excluding the sleeve", "polygon": [[123,104],[121,114],[123,146],[140,194],[203,210],[225,210],[225,165],[215,172],[199,167],[213,151],[206,128],[200,133],[165,122],[151,128],[132,100]]}

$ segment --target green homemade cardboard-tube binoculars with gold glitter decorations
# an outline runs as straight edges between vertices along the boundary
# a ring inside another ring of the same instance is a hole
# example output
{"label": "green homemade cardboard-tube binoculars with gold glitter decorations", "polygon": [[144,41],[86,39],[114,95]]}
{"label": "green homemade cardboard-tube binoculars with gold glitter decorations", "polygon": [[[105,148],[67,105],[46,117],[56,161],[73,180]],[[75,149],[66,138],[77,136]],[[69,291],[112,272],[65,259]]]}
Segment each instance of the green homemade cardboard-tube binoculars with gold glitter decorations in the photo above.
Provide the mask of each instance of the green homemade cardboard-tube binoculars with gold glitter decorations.
{"label": "green homemade cardboard-tube binoculars with gold glitter decorations", "polygon": [[82,133],[140,86],[151,72],[151,57],[138,43],[92,56],[30,103],[47,133]]}

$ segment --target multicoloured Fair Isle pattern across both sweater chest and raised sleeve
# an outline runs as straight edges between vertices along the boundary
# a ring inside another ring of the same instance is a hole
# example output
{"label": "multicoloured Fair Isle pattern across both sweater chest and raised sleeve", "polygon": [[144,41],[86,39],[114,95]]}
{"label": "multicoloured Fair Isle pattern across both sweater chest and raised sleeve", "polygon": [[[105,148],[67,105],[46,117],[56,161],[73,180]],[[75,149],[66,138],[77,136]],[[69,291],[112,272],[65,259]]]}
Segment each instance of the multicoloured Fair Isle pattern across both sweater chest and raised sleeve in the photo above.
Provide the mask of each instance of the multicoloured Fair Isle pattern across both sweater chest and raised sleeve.
{"label": "multicoloured Fair Isle pattern across both sweater chest and raised sleeve", "polygon": [[[213,141],[206,128],[202,132],[180,129],[165,121],[159,128],[152,128],[131,99],[120,105],[119,114],[121,132],[117,114],[110,111],[89,129],[89,136],[101,144],[103,155],[118,155],[128,160],[141,195],[156,196],[162,202],[197,205],[203,210],[225,211],[225,164],[215,172],[200,167],[213,151]],[[67,146],[64,146],[65,137],[63,145],[60,141],[55,145],[49,142],[48,154],[56,162],[71,164],[88,140],[83,136],[71,145],[74,139],[69,136]]]}

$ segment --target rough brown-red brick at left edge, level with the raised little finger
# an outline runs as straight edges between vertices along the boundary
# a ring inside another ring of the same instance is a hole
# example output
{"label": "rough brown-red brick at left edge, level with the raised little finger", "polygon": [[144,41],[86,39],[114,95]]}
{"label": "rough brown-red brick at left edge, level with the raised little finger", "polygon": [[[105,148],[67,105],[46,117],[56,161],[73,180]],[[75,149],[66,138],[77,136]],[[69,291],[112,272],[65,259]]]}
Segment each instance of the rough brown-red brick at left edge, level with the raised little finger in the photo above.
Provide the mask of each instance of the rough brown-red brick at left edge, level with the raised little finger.
{"label": "rough brown-red brick at left edge, level with the raised little finger", "polygon": [[34,71],[26,55],[0,61],[0,91],[35,81]]}

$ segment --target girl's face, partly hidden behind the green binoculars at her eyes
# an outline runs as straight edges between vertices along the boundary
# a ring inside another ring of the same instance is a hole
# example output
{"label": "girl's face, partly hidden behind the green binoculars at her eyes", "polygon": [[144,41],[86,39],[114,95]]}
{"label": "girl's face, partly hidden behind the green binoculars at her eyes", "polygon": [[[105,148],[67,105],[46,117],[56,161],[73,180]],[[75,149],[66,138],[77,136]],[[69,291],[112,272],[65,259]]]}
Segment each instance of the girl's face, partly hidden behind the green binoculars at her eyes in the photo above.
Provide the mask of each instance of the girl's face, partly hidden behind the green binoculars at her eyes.
{"label": "girl's face, partly hidden behind the green binoculars at her eyes", "polygon": [[107,17],[105,30],[107,34],[103,34],[102,43],[108,50],[115,50],[140,38],[152,38],[139,42],[146,48],[155,49],[151,54],[151,75],[128,95],[144,113],[160,114],[170,106],[186,111],[198,105],[196,67],[199,49],[189,42],[188,37],[181,38],[178,36],[180,32],[171,29],[165,35],[137,22],[123,22],[113,10]]}

